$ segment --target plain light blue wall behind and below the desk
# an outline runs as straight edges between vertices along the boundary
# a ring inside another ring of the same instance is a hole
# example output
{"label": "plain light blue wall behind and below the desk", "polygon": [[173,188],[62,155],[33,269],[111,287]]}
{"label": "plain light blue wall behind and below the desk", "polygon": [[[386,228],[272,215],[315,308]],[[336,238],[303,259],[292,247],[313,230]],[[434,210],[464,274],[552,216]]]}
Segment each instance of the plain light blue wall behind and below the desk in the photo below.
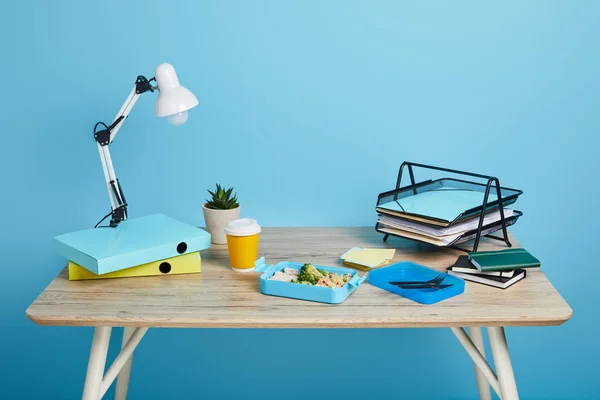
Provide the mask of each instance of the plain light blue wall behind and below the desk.
{"label": "plain light blue wall behind and below the desk", "polygon": [[[221,182],[265,226],[371,225],[403,160],[497,175],[524,190],[513,231],[574,309],[507,329],[520,394],[600,398],[600,3],[412,3],[3,2],[0,397],[81,394],[92,330],[25,309],[64,266],[51,238],[107,212],[94,123],[167,61],[200,106],[174,128],[140,98],[112,146],[131,216],[202,225]],[[342,350],[270,349],[306,341]],[[477,397],[449,330],[161,329],[135,356],[131,399],[259,395]]]}

